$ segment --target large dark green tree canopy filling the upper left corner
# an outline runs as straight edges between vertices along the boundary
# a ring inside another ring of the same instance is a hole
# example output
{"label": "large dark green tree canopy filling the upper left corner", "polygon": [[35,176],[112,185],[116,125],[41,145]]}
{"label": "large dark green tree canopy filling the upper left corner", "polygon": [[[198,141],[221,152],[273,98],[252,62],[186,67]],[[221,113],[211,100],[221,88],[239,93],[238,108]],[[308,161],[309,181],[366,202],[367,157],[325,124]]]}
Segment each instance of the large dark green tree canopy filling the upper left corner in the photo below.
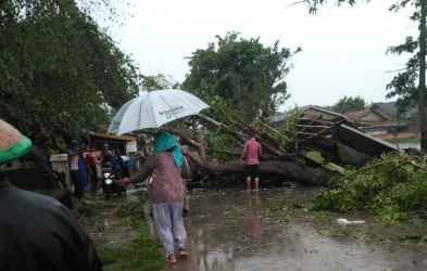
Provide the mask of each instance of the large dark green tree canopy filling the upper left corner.
{"label": "large dark green tree canopy filling the upper left corner", "polygon": [[0,117],[35,144],[64,147],[138,93],[133,61],[75,1],[2,1],[0,37]]}

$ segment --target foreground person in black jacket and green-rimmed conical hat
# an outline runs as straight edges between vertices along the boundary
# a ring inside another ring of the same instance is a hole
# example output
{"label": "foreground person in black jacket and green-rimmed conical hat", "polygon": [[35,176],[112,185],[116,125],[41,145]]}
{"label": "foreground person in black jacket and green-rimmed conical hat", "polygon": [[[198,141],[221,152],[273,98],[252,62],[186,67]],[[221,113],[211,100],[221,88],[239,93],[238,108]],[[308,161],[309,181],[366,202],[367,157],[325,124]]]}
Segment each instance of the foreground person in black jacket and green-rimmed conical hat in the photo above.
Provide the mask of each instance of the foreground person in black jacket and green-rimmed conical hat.
{"label": "foreground person in black jacket and green-rimmed conical hat", "polygon": [[[0,119],[0,165],[30,150],[32,141]],[[73,212],[52,197],[15,188],[1,170],[0,214],[0,270],[102,270]]]}

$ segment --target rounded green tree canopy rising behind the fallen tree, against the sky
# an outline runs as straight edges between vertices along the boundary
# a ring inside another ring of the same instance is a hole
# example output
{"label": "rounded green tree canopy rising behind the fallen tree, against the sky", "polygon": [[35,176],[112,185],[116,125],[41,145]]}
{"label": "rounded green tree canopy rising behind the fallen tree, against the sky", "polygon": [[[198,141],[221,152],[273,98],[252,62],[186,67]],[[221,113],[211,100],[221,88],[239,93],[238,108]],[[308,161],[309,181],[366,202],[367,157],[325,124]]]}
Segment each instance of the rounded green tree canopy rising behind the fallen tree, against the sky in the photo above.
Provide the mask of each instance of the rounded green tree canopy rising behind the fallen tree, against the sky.
{"label": "rounded green tree canopy rising behind the fallen tree, against the sky", "polygon": [[279,41],[265,48],[259,38],[238,40],[238,36],[216,36],[217,48],[212,42],[187,57],[190,74],[183,88],[204,101],[219,96],[249,120],[268,117],[290,96],[284,78],[289,60],[301,49],[291,52],[279,48]]}

